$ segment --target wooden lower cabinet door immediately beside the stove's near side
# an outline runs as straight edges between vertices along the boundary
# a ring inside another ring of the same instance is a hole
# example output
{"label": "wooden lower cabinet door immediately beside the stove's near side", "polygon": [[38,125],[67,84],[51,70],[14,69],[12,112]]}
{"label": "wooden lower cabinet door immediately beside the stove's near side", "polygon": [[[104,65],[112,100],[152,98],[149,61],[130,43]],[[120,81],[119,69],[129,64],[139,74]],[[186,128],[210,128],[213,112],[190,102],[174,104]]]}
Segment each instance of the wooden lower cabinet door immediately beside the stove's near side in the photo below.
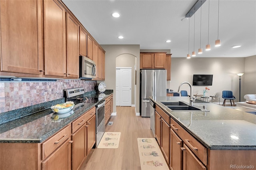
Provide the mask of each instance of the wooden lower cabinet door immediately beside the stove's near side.
{"label": "wooden lower cabinet door immediately beside the stove's near side", "polygon": [[96,142],[96,115],[87,121],[87,155]]}

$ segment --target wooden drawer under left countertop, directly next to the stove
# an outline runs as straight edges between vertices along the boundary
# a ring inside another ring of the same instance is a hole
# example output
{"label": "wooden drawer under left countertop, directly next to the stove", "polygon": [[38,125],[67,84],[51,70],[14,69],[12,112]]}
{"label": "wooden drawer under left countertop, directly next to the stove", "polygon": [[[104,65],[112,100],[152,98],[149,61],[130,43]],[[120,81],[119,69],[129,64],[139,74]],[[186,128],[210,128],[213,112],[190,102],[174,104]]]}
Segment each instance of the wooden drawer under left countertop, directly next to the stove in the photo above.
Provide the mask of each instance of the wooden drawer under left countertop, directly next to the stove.
{"label": "wooden drawer under left countertop, directly next to the stove", "polygon": [[80,116],[78,119],[73,121],[72,122],[72,133],[76,132],[76,130],[78,130],[80,127],[82,127],[86,123],[86,121],[88,121],[95,113],[96,113],[96,108],[93,107],[92,109],[90,109],[89,111],[84,113],[84,115]]}

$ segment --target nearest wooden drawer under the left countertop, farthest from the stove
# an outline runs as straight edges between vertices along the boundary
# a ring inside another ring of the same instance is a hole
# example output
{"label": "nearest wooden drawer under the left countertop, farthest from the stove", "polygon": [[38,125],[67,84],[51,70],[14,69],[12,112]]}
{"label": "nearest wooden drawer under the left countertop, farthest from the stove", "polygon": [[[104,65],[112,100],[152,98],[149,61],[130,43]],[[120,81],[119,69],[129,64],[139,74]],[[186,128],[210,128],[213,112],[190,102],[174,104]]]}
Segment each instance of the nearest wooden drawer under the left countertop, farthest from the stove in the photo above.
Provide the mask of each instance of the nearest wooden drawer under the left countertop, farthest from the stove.
{"label": "nearest wooden drawer under the left countertop, farthest from the stove", "polygon": [[42,143],[42,160],[47,158],[54,150],[63,144],[71,136],[71,125],[64,127],[48,140]]}

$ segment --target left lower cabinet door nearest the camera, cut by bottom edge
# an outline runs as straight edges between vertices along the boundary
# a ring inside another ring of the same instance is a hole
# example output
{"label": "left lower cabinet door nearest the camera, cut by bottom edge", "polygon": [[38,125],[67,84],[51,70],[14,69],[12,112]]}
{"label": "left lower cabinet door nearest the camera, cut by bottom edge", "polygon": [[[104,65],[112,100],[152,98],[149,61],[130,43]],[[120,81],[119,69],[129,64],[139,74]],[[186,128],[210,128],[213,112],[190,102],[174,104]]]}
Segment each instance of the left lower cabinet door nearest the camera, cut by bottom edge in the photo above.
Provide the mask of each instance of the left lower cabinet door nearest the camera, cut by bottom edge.
{"label": "left lower cabinet door nearest the camera, cut by bottom edge", "polygon": [[71,170],[70,138],[42,162],[42,170]]}

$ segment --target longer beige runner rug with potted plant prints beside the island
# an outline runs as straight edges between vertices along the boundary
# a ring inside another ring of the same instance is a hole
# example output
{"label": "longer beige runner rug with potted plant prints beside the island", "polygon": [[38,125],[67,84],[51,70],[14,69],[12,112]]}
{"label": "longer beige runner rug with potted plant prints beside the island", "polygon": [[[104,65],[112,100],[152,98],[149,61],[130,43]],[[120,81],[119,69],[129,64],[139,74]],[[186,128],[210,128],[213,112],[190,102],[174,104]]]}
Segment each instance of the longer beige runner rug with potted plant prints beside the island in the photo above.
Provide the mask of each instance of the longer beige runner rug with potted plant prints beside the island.
{"label": "longer beige runner rug with potted plant prints beside the island", "polygon": [[169,170],[155,138],[138,138],[142,170]]}

